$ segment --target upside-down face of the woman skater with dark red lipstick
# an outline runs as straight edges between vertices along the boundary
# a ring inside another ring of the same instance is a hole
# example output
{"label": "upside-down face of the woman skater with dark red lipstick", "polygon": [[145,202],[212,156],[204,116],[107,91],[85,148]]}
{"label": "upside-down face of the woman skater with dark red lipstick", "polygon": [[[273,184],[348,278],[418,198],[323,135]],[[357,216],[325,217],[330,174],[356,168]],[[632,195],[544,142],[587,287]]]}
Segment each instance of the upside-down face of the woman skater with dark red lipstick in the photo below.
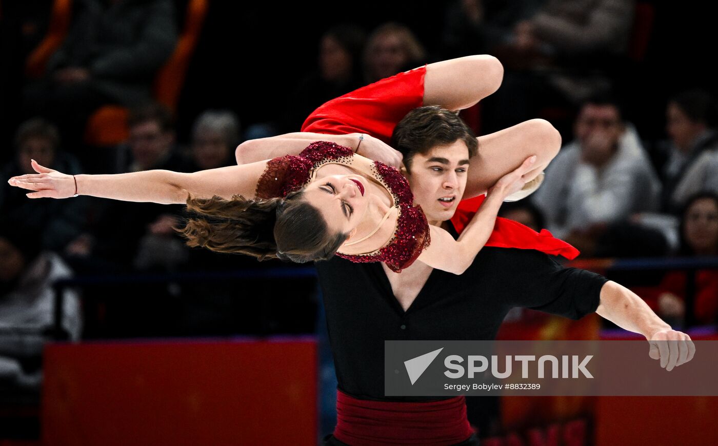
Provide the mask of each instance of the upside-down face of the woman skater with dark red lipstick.
{"label": "upside-down face of the woman skater with dark red lipstick", "polygon": [[360,175],[317,178],[304,189],[304,199],[320,210],[330,231],[353,234],[368,209],[368,182]]}

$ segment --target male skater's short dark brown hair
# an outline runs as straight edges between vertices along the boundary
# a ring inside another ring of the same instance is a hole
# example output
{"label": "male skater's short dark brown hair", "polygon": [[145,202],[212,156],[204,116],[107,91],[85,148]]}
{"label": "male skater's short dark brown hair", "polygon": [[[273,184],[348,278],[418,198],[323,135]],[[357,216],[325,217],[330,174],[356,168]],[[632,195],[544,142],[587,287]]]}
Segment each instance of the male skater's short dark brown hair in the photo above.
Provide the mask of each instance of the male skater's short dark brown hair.
{"label": "male skater's short dark brown hair", "polygon": [[419,153],[425,155],[437,146],[464,141],[469,157],[479,151],[479,142],[469,126],[453,111],[439,106],[424,106],[404,116],[391,135],[391,147],[404,155],[404,165],[411,170],[411,159]]}

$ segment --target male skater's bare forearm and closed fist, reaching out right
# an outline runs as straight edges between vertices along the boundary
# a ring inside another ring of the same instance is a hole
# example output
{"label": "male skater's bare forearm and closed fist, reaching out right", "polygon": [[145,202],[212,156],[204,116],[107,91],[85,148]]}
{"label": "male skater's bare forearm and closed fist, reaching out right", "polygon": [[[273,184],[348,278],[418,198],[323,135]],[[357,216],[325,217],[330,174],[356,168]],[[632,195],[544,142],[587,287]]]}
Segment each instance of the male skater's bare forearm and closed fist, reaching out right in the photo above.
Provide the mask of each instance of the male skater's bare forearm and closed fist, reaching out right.
{"label": "male skater's bare forearm and closed fist, reaching out right", "polygon": [[643,299],[616,282],[603,285],[596,312],[625,330],[643,335],[651,344],[649,356],[661,359],[661,367],[667,371],[691,361],[696,353],[689,335],[672,330]]}

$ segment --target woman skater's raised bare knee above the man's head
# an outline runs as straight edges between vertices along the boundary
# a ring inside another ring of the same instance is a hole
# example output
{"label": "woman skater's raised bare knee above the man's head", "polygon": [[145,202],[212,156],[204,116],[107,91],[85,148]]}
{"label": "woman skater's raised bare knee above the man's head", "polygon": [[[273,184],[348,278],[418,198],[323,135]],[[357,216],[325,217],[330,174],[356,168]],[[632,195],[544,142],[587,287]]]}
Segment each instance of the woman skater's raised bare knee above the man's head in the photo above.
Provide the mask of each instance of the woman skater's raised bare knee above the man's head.
{"label": "woman skater's raised bare knee above the man's head", "polygon": [[424,105],[462,110],[498,90],[503,65],[496,57],[475,55],[426,65]]}

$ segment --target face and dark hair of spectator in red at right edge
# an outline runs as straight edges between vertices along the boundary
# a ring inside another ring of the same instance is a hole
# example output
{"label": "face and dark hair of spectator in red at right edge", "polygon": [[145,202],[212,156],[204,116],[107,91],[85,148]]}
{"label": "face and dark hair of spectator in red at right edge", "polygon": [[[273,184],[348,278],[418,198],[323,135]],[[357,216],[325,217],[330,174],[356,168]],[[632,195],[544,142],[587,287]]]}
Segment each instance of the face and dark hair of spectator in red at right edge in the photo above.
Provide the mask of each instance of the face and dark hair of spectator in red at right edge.
{"label": "face and dark hair of spectator in red at right edge", "polygon": [[696,200],[684,215],[686,243],[699,255],[718,254],[718,203],[711,198]]}

